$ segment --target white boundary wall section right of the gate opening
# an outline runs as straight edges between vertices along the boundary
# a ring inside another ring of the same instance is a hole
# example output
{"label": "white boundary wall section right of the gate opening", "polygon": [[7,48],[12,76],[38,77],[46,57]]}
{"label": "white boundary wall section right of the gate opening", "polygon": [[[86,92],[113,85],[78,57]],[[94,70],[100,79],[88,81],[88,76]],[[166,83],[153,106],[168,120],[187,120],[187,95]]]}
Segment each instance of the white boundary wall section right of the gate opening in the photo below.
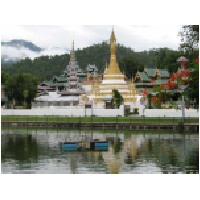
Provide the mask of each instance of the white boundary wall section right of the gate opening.
{"label": "white boundary wall section right of the gate opening", "polygon": [[[139,115],[145,117],[182,117],[182,110],[180,109],[139,109]],[[199,117],[199,110],[185,109],[185,117]]]}

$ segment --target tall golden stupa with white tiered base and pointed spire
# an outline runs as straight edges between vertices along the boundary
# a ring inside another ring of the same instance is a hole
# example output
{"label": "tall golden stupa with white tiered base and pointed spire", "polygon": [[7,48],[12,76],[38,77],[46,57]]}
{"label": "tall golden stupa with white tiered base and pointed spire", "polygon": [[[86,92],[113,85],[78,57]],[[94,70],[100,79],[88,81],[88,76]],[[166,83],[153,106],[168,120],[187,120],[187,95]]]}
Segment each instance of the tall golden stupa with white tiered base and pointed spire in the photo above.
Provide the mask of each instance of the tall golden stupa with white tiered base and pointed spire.
{"label": "tall golden stupa with white tiered base and pointed spire", "polygon": [[110,64],[105,67],[102,81],[95,81],[90,99],[94,108],[108,108],[113,93],[117,89],[123,96],[124,105],[131,110],[136,108],[136,89],[132,81],[127,81],[126,76],[120,71],[116,60],[116,38],[114,29],[110,37]]}

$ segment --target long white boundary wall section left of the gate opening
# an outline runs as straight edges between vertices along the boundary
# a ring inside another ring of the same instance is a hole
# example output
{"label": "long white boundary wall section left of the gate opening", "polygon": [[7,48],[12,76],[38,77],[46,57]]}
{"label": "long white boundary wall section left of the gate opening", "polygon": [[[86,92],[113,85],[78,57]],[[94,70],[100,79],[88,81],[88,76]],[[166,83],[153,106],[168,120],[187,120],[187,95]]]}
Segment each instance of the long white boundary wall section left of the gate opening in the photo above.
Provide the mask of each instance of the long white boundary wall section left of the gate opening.
{"label": "long white boundary wall section left of the gate opening", "polygon": [[1,115],[62,115],[62,116],[99,116],[116,117],[124,116],[124,106],[119,109],[60,109],[60,108],[33,108],[33,109],[1,109]]}

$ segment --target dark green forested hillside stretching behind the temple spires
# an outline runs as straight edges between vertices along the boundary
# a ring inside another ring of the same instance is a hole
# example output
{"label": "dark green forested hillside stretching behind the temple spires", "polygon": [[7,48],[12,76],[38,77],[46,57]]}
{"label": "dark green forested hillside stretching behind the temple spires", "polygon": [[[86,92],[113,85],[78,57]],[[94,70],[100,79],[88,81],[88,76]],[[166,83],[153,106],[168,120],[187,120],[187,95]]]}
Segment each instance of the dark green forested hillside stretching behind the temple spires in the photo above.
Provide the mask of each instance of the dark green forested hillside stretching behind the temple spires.
{"label": "dark green forested hillside stretching behind the temple spires", "polygon": [[[184,52],[184,56],[189,59],[188,67],[193,67],[192,61],[198,56],[198,51]],[[93,46],[78,49],[75,51],[80,68],[84,71],[88,64],[95,64],[99,73],[102,73],[106,63],[110,61],[110,45],[103,42]],[[180,63],[177,58],[183,52],[170,50],[169,48],[151,49],[149,51],[135,52],[131,48],[117,44],[117,60],[121,71],[128,78],[135,76],[137,70],[143,71],[144,67],[165,68],[170,73],[177,71]],[[13,76],[21,73],[30,73],[38,78],[39,81],[52,79],[55,75],[63,74],[66,65],[69,63],[69,55],[40,56],[31,60],[25,58],[14,64],[2,65],[2,71]]]}

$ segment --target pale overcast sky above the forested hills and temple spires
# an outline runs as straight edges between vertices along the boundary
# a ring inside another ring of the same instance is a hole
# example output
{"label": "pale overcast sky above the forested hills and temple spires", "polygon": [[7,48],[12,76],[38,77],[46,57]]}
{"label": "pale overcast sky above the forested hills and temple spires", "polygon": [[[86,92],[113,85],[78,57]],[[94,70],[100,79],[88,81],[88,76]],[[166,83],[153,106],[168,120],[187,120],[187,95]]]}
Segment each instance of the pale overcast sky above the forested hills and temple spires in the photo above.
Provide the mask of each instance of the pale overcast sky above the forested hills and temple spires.
{"label": "pale overcast sky above the forested hills and temple spires", "polygon": [[[43,54],[63,54],[71,48],[73,39],[75,50],[108,40],[112,27],[112,25],[4,25],[1,30],[1,40],[25,39],[45,48]],[[168,47],[177,50],[180,43],[180,37],[178,37],[180,29],[181,25],[114,26],[117,42],[135,51],[149,50],[153,47]],[[5,51],[10,50],[2,49],[2,53]],[[10,52],[13,53],[13,51]]]}

